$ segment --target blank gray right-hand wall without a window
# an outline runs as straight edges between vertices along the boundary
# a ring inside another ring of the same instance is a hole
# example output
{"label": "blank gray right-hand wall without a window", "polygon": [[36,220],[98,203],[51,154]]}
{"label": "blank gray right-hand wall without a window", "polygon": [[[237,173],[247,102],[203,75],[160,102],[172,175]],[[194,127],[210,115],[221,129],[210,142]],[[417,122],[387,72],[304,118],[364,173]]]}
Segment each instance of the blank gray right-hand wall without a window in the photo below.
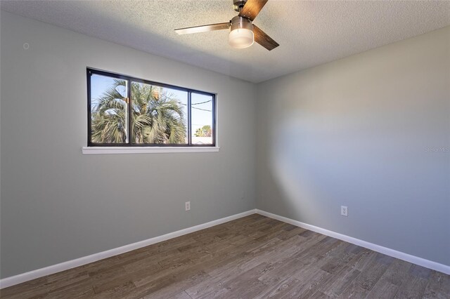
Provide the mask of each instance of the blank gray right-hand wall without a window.
{"label": "blank gray right-hand wall without a window", "polygon": [[266,81],[257,109],[257,208],[450,265],[450,27]]}

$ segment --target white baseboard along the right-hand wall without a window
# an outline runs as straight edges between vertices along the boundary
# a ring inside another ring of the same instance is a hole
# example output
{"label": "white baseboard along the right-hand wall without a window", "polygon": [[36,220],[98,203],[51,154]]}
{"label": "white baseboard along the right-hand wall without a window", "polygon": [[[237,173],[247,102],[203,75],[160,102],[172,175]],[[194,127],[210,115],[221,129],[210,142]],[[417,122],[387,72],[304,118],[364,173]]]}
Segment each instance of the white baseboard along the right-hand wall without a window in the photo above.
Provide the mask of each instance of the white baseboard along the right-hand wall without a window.
{"label": "white baseboard along the right-hand wall without a window", "polygon": [[313,232],[319,232],[319,234],[325,234],[326,236],[333,237],[333,238],[336,238],[336,239],[340,239],[342,241],[346,241],[346,242],[349,242],[349,243],[352,243],[352,244],[355,244],[355,245],[358,245],[358,246],[361,246],[361,247],[364,247],[364,248],[368,248],[368,249],[371,249],[373,251],[377,251],[379,253],[383,253],[385,255],[390,255],[393,258],[399,258],[400,260],[406,260],[406,262],[409,262],[409,263],[413,263],[413,264],[416,264],[416,265],[419,265],[419,266],[427,267],[429,269],[436,270],[436,271],[439,271],[439,272],[442,272],[442,273],[445,273],[445,274],[450,274],[450,266],[448,266],[448,265],[436,263],[436,262],[433,262],[432,260],[425,260],[425,258],[419,258],[418,256],[415,256],[415,255],[411,255],[411,254],[404,253],[404,252],[401,252],[401,251],[396,251],[396,250],[391,249],[391,248],[387,248],[387,247],[383,247],[383,246],[380,246],[380,245],[377,245],[377,244],[373,244],[373,243],[370,243],[368,241],[363,241],[363,240],[360,240],[360,239],[356,239],[354,237],[349,237],[349,236],[347,236],[345,234],[340,234],[338,232],[333,232],[331,230],[326,230],[326,229],[321,228],[321,227],[316,227],[314,225],[309,225],[309,224],[304,223],[304,222],[300,222],[300,221],[293,220],[293,219],[290,219],[290,218],[285,218],[283,216],[276,215],[276,214],[273,214],[273,213],[269,213],[269,212],[266,212],[266,211],[261,211],[261,210],[257,209],[256,213],[258,213],[260,215],[264,215],[264,216],[269,217],[269,218],[274,218],[276,220],[280,220],[280,221],[289,223],[291,225],[302,227],[302,228],[307,229],[307,230],[312,230]]}

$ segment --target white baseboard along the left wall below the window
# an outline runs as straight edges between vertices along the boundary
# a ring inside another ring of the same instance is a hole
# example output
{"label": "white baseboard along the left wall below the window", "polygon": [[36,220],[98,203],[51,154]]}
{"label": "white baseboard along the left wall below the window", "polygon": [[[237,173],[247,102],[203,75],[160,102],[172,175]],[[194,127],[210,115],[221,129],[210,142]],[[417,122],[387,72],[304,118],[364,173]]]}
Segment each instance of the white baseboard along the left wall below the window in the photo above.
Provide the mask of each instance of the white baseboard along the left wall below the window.
{"label": "white baseboard along the left wall below the window", "polygon": [[198,230],[204,230],[205,228],[212,227],[214,225],[219,225],[224,222],[229,222],[238,218],[242,218],[248,215],[255,214],[256,210],[250,210],[243,213],[238,213],[236,215],[231,215],[225,218],[213,220],[210,222],[203,223],[201,225],[195,225],[193,227],[185,228],[184,230],[177,230],[176,232],[169,232],[169,234],[163,234],[162,236],[154,237],[151,239],[146,239],[133,244],[117,247],[110,249],[108,251],[102,251],[99,253],[94,253],[91,255],[84,256],[82,258],[77,258],[75,260],[68,260],[67,262],[59,263],[56,265],[51,265],[49,267],[44,267],[37,270],[32,270],[30,272],[25,272],[23,274],[18,274],[12,277],[6,277],[0,279],[0,288],[7,288],[8,286],[14,286],[15,284],[21,284],[25,281],[32,279],[37,279],[39,277],[44,277],[46,275],[54,274],[57,272],[69,270],[75,267],[86,265],[89,263],[94,263],[97,260],[103,260],[104,258],[110,258],[114,255],[119,255],[121,253],[126,253],[128,251],[133,251],[138,248],[149,246],[151,244],[159,243],[161,241],[166,241],[168,239],[180,237],[184,234],[190,234],[191,232],[197,232]]}

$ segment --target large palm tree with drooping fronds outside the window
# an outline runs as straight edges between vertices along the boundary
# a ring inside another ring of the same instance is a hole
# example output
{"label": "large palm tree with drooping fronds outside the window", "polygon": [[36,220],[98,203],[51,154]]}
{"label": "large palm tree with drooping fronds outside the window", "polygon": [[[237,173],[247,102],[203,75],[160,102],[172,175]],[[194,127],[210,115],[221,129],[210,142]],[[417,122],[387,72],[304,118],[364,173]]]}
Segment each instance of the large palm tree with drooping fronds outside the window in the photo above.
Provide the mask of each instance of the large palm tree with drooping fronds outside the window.
{"label": "large palm tree with drooping fronds outside the window", "polygon": [[[92,141],[127,142],[126,81],[116,79],[92,112]],[[181,102],[158,86],[131,82],[131,142],[186,143],[186,121]]]}

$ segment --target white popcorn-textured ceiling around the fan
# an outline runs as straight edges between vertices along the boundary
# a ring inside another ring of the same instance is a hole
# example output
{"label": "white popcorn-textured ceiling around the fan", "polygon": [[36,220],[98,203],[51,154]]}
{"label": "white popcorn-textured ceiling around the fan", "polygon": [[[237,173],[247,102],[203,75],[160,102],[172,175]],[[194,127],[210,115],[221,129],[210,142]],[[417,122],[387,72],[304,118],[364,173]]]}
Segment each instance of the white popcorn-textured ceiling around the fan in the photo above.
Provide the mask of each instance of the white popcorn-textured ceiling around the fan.
{"label": "white popcorn-textured ceiling around the fan", "polygon": [[228,31],[174,29],[227,22],[232,0],[1,1],[1,9],[252,82],[344,58],[450,25],[450,1],[270,0],[255,25],[280,46],[234,49]]}

